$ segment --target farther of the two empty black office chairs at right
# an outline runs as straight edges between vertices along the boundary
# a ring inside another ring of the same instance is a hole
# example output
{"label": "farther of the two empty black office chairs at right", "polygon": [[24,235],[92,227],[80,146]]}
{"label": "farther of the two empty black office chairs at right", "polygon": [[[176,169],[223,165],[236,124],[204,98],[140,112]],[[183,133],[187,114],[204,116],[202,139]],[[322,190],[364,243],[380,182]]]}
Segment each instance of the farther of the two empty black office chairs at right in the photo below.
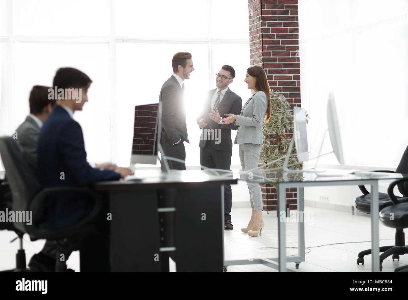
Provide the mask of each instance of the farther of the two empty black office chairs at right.
{"label": "farther of the two empty black office chairs at right", "polygon": [[[373,172],[385,172],[385,173],[408,173],[408,147],[405,149],[404,154],[401,157],[401,160],[398,164],[396,171],[389,171],[389,170],[376,170]],[[408,186],[407,186],[408,188]],[[358,196],[355,199],[356,209],[362,213],[370,214],[370,207],[371,207],[371,195],[367,191],[364,185],[359,185],[360,191],[363,193],[363,196]],[[399,198],[399,202],[408,202],[408,198],[406,197],[406,193],[404,191],[403,183],[398,183],[398,189],[404,198]],[[408,191],[408,189],[407,189]],[[390,200],[388,193],[378,193],[378,202],[379,202],[379,210],[384,209],[390,205],[393,205],[393,202]],[[397,228],[395,232],[395,245],[392,246],[383,246],[379,247],[379,252],[382,253],[380,255],[380,261],[382,262],[385,258],[392,255],[392,260],[399,260],[399,256],[405,253],[401,253],[395,247],[405,247],[405,233],[402,228]],[[391,249],[391,250],[390,250]],[[357,264],[364,265],[364,256],[371,254],[371,249],[367,249],[358,253]],[[382,269],[382,264],[380,264],[380,270]]]}

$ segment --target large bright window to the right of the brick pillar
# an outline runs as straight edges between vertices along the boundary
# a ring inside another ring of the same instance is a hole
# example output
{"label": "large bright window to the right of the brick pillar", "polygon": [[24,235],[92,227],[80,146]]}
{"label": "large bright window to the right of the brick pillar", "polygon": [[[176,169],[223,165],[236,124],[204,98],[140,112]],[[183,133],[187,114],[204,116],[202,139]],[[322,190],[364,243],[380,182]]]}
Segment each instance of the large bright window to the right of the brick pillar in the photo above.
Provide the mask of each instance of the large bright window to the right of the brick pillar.
{"label": "large bright window to the right of the brick pillar", "polygon": [[[310,156],[334,91],[347,165],[395,168],[408,144],[408,1],[299,0],[302,107]],[[322,153],[330,152],[326,136]],[[319,163],[338,164],[334,155]]]}

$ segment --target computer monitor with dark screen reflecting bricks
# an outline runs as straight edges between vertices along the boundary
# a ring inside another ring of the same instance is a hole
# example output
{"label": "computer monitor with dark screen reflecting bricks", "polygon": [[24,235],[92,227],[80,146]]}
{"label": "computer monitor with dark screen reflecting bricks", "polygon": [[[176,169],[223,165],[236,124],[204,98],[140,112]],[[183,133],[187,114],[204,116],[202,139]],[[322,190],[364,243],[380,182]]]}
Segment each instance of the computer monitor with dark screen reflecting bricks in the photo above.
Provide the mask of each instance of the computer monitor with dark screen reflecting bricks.
{"label": "computer monitor with dark screen reflecting bricks", "polygon": [[130,168],[135,164],[156,164],[157,148],[160,142],[160,109],[159,103],[135,106],[133,142]]}

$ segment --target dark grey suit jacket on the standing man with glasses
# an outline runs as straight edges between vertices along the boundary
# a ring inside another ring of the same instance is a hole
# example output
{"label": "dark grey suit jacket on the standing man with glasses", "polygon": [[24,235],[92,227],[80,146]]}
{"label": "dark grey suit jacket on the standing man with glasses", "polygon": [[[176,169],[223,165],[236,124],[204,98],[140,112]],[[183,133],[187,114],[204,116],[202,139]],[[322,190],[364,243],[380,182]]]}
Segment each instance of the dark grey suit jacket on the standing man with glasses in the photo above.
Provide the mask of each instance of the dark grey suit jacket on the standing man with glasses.
{"label": "dark grey suit jacket on the standing man with glasses", "polygon": [[[203,117],[205,117],[206,123],[208,125],[203,128],[201,133],[202,137],[204,137],[205,135],[204,130],[208,129],[209,127],[211,127],[211,129],[221,129],[220,136],[218,136],[218,138],[220,139],[219,140],[220,143],[217,144],[215,140],[211,140],[211,144],[213,145],[213,148],[215,150],[232,151],[231,129],[237,130],[238,126],[235,126],[234,123],[218,124],[215,123],[215,121],[211,120],[210,116],[208,116],[208,113],[211,113],[212,109],[211,96],[213,96],[216,90],[217,89],[212,89],[211,91],[208,91],[206,102],[204,104],[202,112],[199,116],[197,116],[197,124]],[[234,93],[228,88],[220,104],[218,105],[218,112],[220,113],[220,116],[222,118],[226,118],[227,116],[224,115],[225,113],[233,113],[234,115],[238,115],[241,112],[241,109],[242,109],[241,97],[239,97],[236,93]],[[206,142],[207,141],[205,138],[200,138],[199,146],[201,148],[204,148]]]}

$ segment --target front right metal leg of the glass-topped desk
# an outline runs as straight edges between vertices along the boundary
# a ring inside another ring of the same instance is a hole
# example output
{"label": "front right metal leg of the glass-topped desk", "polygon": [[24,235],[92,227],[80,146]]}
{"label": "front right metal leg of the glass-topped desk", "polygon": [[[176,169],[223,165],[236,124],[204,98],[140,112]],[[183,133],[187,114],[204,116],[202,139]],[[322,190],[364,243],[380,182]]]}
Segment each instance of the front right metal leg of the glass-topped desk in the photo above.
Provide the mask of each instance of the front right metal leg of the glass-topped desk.
{"label": "front right metal leg of the glass-topped desk", "polygon": [[378,180],[371,183],[371,271],[380,271],[378,233]]}

